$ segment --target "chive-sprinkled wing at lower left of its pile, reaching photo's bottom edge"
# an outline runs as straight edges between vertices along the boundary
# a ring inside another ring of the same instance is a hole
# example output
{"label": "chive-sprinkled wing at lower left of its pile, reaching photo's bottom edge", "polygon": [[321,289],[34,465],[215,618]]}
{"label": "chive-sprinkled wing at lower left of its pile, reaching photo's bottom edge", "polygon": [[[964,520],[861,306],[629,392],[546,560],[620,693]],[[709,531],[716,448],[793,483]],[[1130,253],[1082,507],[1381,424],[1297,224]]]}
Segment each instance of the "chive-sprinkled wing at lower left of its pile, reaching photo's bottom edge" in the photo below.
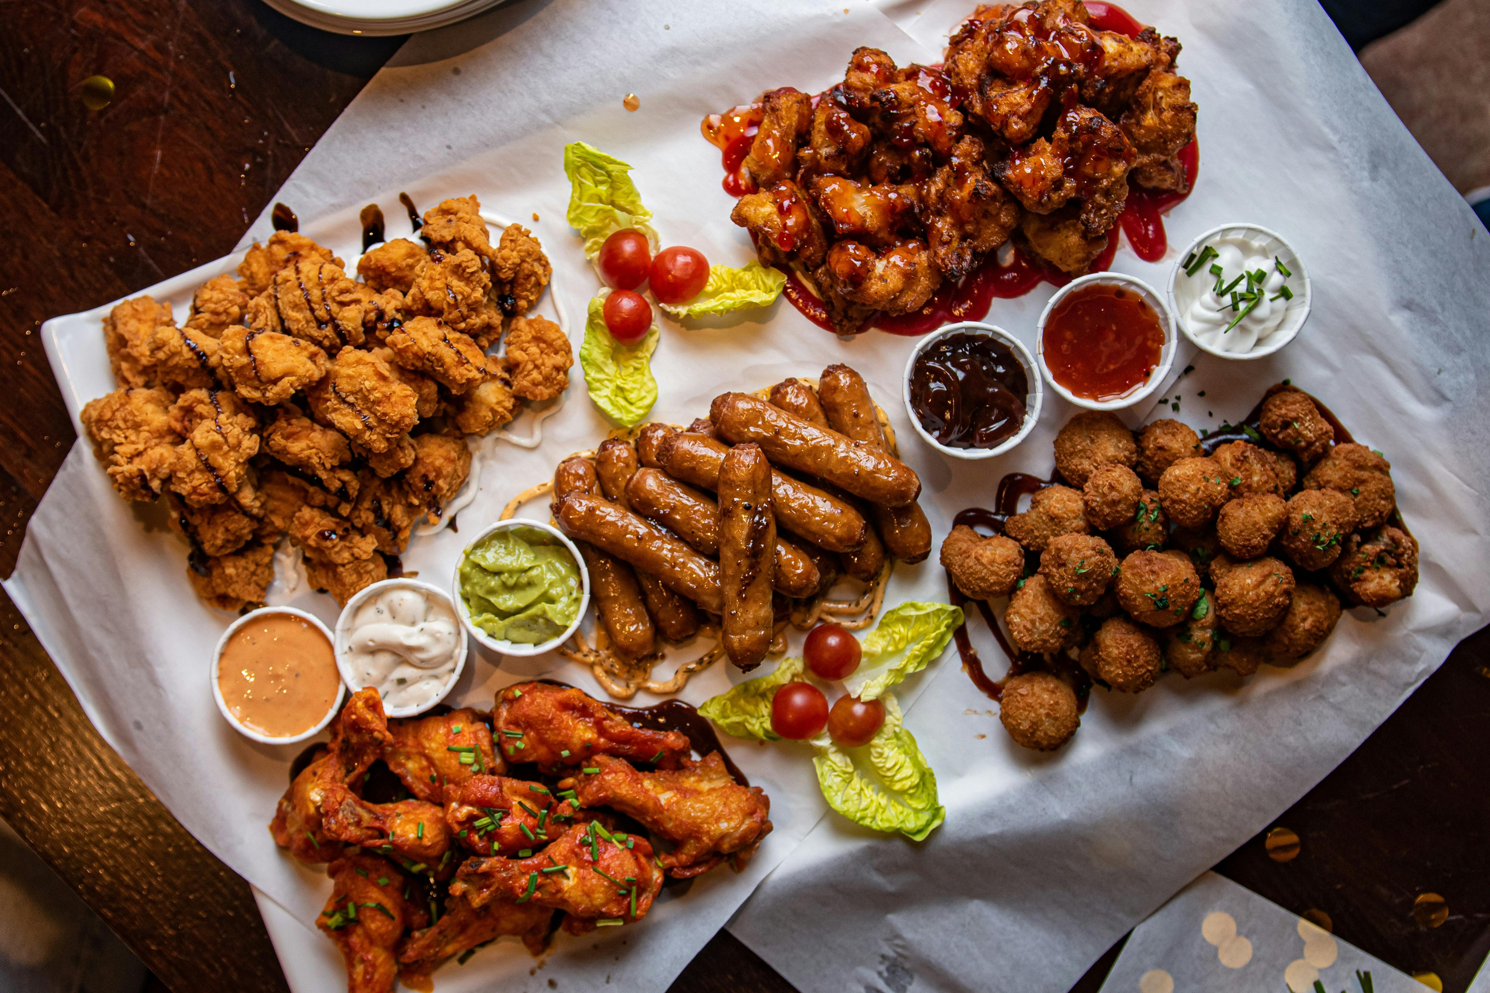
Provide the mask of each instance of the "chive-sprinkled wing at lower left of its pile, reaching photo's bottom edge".
{"label": "chive-sprinkled wing at lower left of its pile, reaching photo's bottom edge", "polygon": [[386,859],[344,856],[328,869],[332,889],[316,926],[347,962],[347,993],[393,993],[396,948],[405,927],[423,926],[423,911],[404,901],[404,877]]}

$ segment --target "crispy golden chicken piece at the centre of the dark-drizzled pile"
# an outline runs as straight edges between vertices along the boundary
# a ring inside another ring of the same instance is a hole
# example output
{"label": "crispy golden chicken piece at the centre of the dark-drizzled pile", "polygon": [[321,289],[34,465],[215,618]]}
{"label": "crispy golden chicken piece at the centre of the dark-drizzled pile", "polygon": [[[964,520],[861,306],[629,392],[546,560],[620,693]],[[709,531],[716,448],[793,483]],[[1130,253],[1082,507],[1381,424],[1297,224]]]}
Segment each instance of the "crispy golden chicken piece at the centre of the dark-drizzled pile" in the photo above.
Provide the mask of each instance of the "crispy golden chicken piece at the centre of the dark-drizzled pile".
{"label": "crispy golden chicken piece at the centre of the dark-drizzled pile", "polygon": [[358,348],[338,351],[305,397],[317,421],[371,451],[386,451],[419,421],[419,395],[387,362]]}

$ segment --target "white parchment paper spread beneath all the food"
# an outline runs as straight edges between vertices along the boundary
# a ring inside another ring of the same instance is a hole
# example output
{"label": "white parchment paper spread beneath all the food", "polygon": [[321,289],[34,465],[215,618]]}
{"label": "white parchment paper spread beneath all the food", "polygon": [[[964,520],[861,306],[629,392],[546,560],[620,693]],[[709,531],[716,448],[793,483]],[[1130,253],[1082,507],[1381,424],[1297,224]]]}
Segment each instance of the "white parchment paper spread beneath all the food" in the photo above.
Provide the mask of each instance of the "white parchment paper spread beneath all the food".
{"label": "white parchment paper spread beneath all the food", "polygon": [[[945,31],[971,6],[903,3],[887,16],[864,0],[627,9],[527,0],[413,39],[277,199],[349,266],[362,204],[383,205],[389,237],[405,234],[401,189],[422,207],[475,192],[498,214],[527,223],[538,213],[530,226],[575,322],[595,277],[563,223],[566,141],[633,164],[665,241],[739,265],[751,250],[727,220],[732,201],[720,188],[717,149],[699,137],[700,118],[772,86],[821,89],[858,45],[901,63],[934,61]],[[1314,277],[1314,311],[1299,338],[1261,362],[1201,356],[1165,387],[1182,397],[1177,415],[1198,427],[1237,418],[1284,377],[1320,396],[1393,463],[1423,545],[1417,596],[1386,618],[1347,616],[1325,652],[1292,670],[1266,668],[1247,683],[1226,674],[1168,679],[1135,698],[1098,692],[1077,738],[1055,756],[1013,747],[995,727],[994,704],[955,657],[943,660],[897,691],[913,704],[907,725],[948,805],[946,825],[919,846],[822,816],[805,747],[730,743],[770,794],[776,823],[744,877],[711,874],[606,941],[560,939],[547,969],[532,975],[532,960],[499,942],[437,974],[441,989],[498,980],[547,989],[559,975],[584,989],[606,978],[662,989],[781,862],[732,929],[800,989],[1065,990],[1113,939],[1325,776],[1483,624],[1490,403],[1477,332],[1490,310],[1486,232],[1317,7],[1134,0],[1129,9],[1185,42],[1180,66],[1201,104],[1201,179],[1170,217],[1171,246],[1216,223],[1253,220],[1283,232]],[[641,97],[639,112],[623,110],[627,92]],[[268,229],[265,214],[250,235]],[[1162,286],[1173,255],[1144,264],[1123,249],[1115,268]],[[995,301],[989,320],[1033,347],[1049,292]],[[578,344],[577,323],[571,338]],[[840,342],[785,304],[665,323],[654,417],[685,423],[721,390],[848,362],[890,412],[940,540],[957,511],[991,502],[1004,472],[1047,472],[1050,441],[1071,411],[1047,397],[1031,438],[994,464],[943,459],[916,442],[897,399],[910,347],[882,333]],[[578,368],[571,381],[569,402],[536,451],[496,450],[460,515],[466,527],[603,436]],[[416,540],[405,563],[438,582],[460,546],[450,533]],[[185,543],[159,521],[139,520],[86,445],[33,517],[6,587],[110,744],[188,829],[283,908],[268,914],[277,941],[285,920],[308,923],[329,887],[277,852],[264,829],[292,750],[249,744],[222,722],[207,664],[229,618],[197,603]],[[888,603],[943,596],[933,560],[897,572]],[[335,613],[326,598],[317,609]],[[982,645],[997,658],[991,640]],[[496,686],[539,671],[595,689],[554,658],[501,668],[496,661],[477,657],[453,700],[489,706]],[[682,695],[697,703],[730,679],[715,667]],[[329,942],[307,936],[320,944],[277,947],[297,990],[325,989],[334,951],[328,959]]]}

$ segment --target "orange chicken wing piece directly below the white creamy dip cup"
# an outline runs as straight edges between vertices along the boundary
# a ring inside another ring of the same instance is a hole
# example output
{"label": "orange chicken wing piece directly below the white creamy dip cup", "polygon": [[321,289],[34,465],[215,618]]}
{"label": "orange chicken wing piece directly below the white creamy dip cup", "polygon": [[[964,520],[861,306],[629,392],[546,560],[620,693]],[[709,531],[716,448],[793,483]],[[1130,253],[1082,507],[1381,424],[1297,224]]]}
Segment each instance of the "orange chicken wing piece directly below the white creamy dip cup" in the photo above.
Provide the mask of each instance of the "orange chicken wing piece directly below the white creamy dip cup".
{"label": "orange chicken wing piece directly below the white creamy dip cup", "polygon": [[387,722],[393,743],[383,761],[416,798],[443,804],[446,788],[459,788],[481,773],[507,770],[492,750],[492,729],[471,707],[435,718],[404,718]]}

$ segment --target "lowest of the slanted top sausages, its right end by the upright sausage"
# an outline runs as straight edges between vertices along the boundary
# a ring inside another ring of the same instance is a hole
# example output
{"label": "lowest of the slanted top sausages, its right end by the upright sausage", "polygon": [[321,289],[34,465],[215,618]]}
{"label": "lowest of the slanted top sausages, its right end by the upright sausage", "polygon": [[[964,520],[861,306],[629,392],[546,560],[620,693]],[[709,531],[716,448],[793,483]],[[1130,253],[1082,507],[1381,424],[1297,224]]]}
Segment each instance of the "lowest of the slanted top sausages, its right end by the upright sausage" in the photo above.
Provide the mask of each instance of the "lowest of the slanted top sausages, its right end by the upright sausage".
{"label": "lowest of the slanted top sausages, its right end by the upright sausage", "polygon": [[682,540],[630,511],[586,493],[565,497],[559,527],[569,537],[590,542],[642,572],[650,572],[669,590],[681,593],[709,613],[720,613],[718,563],[705,558]]}

